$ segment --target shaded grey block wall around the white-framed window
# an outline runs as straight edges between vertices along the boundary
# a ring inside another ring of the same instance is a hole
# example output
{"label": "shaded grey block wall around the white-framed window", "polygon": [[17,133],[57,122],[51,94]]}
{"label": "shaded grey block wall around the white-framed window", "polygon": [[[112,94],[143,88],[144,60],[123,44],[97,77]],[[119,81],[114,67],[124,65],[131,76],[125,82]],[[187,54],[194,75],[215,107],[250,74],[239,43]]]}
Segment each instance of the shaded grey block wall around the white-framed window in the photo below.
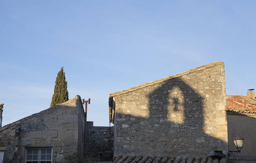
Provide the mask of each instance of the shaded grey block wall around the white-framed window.
{"label": "shaded grey block wall around the white-framed window", "polygon": [[[84,136],[78,136],[80,132],[84,133],[81,131],[84,129],[84,123],[80,123],[78,127],[78,122],[84,121],[84,118],[81,120],[80,114],[84,115],[83,106],[80,96],[76,96],[68,102],[1,128],[0,147],[6,149],[4,159],[10,159],[10,155],[15,153],[11,156],[15,157],[15,162],[25,162],[25,149],[29,147],[52,147],[53,162],[65,162],[65,156],[73,152],[83,153],[83,149],[78,146],[78,142],[84,143]],[[18,133],[15,131],[17,127],[20,127]],[[15,148],[11,147],[13,145]],[[80,146],[83,147],[84,144]],[[10,152],[13,149],[15,151]]]}

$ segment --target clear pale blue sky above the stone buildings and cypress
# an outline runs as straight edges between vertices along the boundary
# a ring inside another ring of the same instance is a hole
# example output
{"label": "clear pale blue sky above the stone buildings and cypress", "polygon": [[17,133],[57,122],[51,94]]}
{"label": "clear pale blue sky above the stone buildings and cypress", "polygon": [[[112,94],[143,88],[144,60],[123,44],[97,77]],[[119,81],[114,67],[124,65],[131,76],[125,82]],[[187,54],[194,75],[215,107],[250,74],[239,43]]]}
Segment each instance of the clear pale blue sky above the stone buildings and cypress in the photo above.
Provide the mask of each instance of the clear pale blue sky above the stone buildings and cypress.
{"label": "clear pale blue sky above the stone buildings and cypress", "polygon": [[108,126],[110,93],[223,60],[226,93],[256,89],[256,1],[0,1],[3,125],[69,98]]}

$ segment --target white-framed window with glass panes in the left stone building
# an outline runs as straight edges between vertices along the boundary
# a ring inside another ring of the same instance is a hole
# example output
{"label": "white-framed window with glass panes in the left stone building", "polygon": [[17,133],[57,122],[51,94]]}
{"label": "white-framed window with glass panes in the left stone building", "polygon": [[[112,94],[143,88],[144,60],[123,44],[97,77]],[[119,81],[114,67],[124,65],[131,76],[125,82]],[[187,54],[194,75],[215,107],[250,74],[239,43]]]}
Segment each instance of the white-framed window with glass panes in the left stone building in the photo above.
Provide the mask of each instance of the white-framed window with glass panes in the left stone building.
{"label": "white-framed window with glass panes in the left stone building", "polygon": [[51,163],[52,148],[26,148],[26,163]]}

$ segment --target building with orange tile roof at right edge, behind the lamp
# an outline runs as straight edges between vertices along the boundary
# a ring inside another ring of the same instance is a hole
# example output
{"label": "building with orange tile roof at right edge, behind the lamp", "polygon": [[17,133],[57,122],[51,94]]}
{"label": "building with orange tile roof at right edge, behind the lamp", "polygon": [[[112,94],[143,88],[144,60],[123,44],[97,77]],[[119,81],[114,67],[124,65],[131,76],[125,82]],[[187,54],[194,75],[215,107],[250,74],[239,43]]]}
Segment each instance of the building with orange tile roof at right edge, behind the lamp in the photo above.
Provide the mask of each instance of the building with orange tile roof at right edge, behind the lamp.
{"label": "building with orange tile roof at right edge, behind the lamp", "polygon": [[256,162],[256,99],[254,91],[247,92],[247,96],[227,95],[227,121],[229,151],[237,151],[233,143],[233,136],[237,133],[243,136],[244,143],[240,153],[230,156],[230,161]]}

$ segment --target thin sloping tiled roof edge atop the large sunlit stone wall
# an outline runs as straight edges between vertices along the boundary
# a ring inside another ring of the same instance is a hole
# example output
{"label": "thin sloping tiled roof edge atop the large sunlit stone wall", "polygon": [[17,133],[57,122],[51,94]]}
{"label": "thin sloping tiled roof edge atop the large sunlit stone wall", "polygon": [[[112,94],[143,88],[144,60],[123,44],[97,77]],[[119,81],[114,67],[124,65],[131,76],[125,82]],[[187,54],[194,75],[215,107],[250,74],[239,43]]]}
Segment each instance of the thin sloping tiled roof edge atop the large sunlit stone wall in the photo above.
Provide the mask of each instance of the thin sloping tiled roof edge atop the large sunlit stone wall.
{"label": "thin sloping tiled roof edge atop the large sunlit stone wall", "polygon": [[142,87],[145,87],[145,86],[149,86],[149,85],[152,85],[152,84],[155,84],[155,83],[165,82],[166,80],[170,80],[170,79],[173,79],[173,78],[181,77],[181,76],[184,76],[186,74],[189,74],[189,73],[192,73],[192,72],[196,72],[196,71],[199,71],[199,70],[203,70],[204,68],[208,68],[208,67],[212,67],[212,66],[220,65],[220,64],[224,64],[224,62],[223,61],[212,62],[211,64],[208,64],[208,65],[203,65],[201,67],[193,68],[191,70],[184,71],[184,72],[181,72],[181,73],[177,73],[177,74],[174,74],[172,76],[168,76],[168,77],[165,77],[165,78],[154,80],[153,82],[148,82],[146,84],[142,84],[142,85],[138,85],[138,86],[135,86],[135,87],[131,87],[130,89],[126,89],[126,90],[123,90],[123,91],[114,92],[114,93],[110,94],[110,97],[113,97],[113,96],[116,96],[116,95],[120,95],[121,93],[125,93],[125,92],[128,92],[128,91],[137,90],[139,88],[142,88]]}

